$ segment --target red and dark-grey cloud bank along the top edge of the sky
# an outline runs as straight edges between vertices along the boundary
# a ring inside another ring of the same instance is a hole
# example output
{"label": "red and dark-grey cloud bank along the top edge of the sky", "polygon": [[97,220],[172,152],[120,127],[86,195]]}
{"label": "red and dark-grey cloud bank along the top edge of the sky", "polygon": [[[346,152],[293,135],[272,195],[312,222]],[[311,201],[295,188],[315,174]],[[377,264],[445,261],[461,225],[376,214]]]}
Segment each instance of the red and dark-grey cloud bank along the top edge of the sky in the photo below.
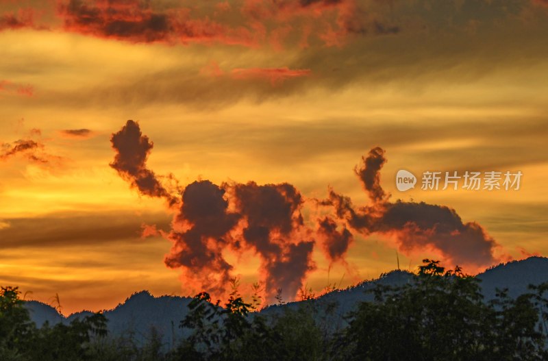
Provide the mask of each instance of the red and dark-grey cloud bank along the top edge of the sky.
{"label": "red and dark-grey cloud bank along the top edge of the sky", "polygon": [[[196,16],[201,10],[205,14]],[[209,8],[200,4],[162,9],[139,0],[68,0],[60,3],[58,14],[66,31],[130,42],[283,49],[283,43],[304,44],[312,34],[321,40],[325,34],[340,38],[362,33],[362,16],[353,0],[246,0],[240,8],[221,2]]]}

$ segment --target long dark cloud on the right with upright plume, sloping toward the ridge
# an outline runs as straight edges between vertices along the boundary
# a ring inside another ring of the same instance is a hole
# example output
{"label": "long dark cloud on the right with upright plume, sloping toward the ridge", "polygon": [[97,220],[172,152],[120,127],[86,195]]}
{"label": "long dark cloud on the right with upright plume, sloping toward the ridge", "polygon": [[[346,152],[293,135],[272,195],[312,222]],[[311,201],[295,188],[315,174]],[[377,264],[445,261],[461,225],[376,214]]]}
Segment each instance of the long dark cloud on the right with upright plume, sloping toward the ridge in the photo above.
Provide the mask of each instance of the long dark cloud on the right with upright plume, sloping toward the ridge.
{"label": "long dark cloud on the right with upright plume, sloping toward the ridge", "polygon": [[497,242],[481,225],[463,223],[452,208],[423,202],[391,203],[385,199],[379,173],[385,162],[383,149],[371,149],[368,157],[362,158],[357,172],[373,202],[371,206],[356,210],[348,197],[333,190],[322,204],[333,206],[339,219],[366,236],[372,233],[394,236],[399,249],[406,253],[434,248],[448,262],[475,268],[497,262],[494,256],[499,247]]}

